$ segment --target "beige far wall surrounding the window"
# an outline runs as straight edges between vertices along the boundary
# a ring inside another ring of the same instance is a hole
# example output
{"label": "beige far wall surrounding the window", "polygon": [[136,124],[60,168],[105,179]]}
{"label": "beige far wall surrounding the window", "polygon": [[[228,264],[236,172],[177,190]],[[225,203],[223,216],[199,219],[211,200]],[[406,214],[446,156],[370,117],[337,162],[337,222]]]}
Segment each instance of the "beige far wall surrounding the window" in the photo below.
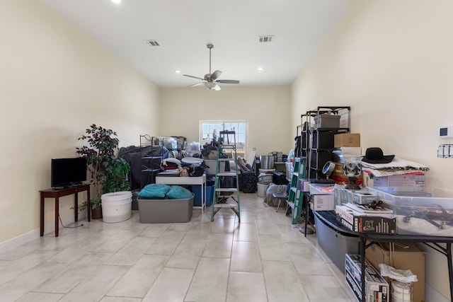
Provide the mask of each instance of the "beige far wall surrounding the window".
{"label": "beige far wall surrounding the window", "polygon": [[[200,120],[248,121],[248,146],[257,155],[287,154],[294,146],[289,120],[290,87],[161,88],[159,135],[199,141]],[[254,152],[250,149],[251,152]],[[250,160],[250,159],[249,159]]]}

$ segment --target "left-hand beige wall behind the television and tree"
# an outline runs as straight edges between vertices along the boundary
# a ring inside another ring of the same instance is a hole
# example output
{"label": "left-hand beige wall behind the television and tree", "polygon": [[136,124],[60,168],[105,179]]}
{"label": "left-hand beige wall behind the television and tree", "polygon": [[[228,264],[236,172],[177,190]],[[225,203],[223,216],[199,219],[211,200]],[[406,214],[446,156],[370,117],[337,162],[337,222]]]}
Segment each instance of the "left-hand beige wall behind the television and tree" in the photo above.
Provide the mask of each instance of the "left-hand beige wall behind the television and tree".
{"label": "left-hand beige wall behind the television and tree", "polygon": [[0,1],[0,20],[1,243],[39,229],[50,159],[76,156],[90,124],[114,129],[120,146],[156,131],[159,89],[40,1]]}

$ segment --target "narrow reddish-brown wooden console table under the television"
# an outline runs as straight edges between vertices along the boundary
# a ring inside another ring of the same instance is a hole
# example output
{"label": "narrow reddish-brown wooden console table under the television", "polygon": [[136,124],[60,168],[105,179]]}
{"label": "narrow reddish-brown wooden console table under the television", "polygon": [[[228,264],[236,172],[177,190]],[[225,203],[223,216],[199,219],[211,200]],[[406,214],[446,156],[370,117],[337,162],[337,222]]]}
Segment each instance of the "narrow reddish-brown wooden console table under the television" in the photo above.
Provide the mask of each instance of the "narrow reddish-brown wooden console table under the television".
{"label": "narrow reddish-brown wooden console table under the television", "polygon": [[44,199],[45,198],[55,198],[55,237],[58,237],[58,215],[59,215],[59,197],[67,196],[74,194],[74,220],[79,220],[79,192],[86,191],[86,212],[88,216],[88,221],[91,221],[91,203],[90,203],[90,185],[80,185],[78,187],[68,187],[67,189],[47,189],[41,190],[41,204],[40,204],[40,223],[41,223],[41,236],[44,236]]}

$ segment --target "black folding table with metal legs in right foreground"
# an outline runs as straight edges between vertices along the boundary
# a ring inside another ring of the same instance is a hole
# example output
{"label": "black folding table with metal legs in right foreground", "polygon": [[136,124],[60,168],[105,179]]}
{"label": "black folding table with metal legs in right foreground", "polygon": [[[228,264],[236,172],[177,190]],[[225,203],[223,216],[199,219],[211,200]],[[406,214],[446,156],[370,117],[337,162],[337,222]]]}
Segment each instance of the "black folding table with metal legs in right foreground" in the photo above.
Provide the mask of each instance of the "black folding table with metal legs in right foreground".
{"label": "black folding table with metal legs in right foreground", "polygon": [[[453,265],[452,265],[452,243],[453,237],[437,237],[437,236],[422,236],[422,235],[387,235],[387,234],[373,234],[373,233],[356,233],[351,232],[345,226],[340,225],[340,223],[336,221],[331,221],[328,219],[332,217],[333,211],[317,211],[316,215],[320,219],[323,219],[329,226],[337,229],[338,231],[345,232],[345,233],[353,233],[360,238],[360,260],[362,261],[362,301],[365,301],[365,250],[369,248],[374,243],[379,242],[416,242],[416,243],[423,243],[428,245],[430,248],[437,250],[442,255],[447,256],[447,265],[448,265],[448,277],[449,277],[449,284],[450,284],[450,299],[453,298]],[[368,240],[368,243],[367,243]],[[440,243],[446,245],[444,248]]]}

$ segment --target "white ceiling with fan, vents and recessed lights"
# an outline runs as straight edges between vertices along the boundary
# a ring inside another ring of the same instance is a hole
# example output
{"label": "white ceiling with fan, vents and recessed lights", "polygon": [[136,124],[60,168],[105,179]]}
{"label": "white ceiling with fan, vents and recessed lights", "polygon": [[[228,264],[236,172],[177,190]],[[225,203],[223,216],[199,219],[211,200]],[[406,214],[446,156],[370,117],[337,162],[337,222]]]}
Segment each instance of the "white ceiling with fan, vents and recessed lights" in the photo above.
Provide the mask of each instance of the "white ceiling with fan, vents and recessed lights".
{"label": "white ceiling with fan, vents and recessed lights", "polygon": [[[209,72],[208,43],[219,79],[292,83],[351,0],[41,1],[158,86],[184,87],[199,81],[182,74]],[[272,42],[258,42],[265,35]]]}

